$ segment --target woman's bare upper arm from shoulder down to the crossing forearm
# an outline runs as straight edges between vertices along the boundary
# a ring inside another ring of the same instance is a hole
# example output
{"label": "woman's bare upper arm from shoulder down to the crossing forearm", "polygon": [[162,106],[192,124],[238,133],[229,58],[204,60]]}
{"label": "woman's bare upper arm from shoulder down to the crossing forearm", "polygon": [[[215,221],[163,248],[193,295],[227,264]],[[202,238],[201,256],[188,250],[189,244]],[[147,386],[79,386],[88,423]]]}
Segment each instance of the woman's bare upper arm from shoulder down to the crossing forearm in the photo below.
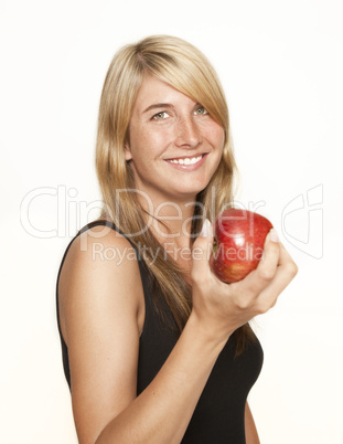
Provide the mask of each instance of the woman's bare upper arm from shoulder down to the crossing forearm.
{"label": "woman's bare upper arm from shoulder down to the crossing forearm", "polygon": [[93,443],[136,398],[144,303],[138,260],[127,239],[95,226],[72,243],[58,283],[79,442]]}

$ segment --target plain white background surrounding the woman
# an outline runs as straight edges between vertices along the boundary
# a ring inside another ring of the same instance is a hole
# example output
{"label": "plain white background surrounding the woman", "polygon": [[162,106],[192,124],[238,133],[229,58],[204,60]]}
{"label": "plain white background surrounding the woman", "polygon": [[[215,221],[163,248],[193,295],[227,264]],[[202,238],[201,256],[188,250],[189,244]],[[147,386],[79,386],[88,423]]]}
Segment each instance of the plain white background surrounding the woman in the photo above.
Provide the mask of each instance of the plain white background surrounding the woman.
{"label": "plain white background surrounding the woman", "polygon": [[154,33],[189,40],[217,70],[237,199],[274,222],[299,265],[256,319],[265,363],[249,402],[261,443],[342,443],[343,31],[333,0],[0,1],[0,442],[76,443],[56,274],[76,230],[97,216],[108,64]]}

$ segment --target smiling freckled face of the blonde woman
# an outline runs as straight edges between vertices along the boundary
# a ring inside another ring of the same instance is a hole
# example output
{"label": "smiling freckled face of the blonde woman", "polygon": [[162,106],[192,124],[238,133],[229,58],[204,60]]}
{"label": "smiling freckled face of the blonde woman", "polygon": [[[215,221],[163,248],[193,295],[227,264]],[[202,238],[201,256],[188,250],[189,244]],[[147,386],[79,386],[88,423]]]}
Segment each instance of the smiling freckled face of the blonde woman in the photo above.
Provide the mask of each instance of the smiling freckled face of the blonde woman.
{"label": "smiling freckled face of the blonde woman", "polygon": [[148,200],[193,201],[215,172],[223,146],[223,128],[201,104],[157,77],[144,77],[132,108],[126,160]]}

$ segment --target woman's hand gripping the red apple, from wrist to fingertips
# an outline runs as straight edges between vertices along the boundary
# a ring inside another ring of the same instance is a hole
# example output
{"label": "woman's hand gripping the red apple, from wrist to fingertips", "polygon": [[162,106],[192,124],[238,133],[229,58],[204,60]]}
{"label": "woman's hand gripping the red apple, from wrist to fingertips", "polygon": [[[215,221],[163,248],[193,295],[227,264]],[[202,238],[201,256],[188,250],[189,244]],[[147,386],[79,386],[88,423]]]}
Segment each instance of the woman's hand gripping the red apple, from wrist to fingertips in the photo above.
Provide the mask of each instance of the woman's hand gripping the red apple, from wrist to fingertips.
{"label": "woman's hand gripping the red apple, from wrist to fingertips", "polygon": [[268,311],[298,272],[275,230],[267,235],[257,268],[243,281],[225,284],[211,271],[213,231],[205,222],[193,244],[193,317],[206,332],[223,340],[257,315]]}

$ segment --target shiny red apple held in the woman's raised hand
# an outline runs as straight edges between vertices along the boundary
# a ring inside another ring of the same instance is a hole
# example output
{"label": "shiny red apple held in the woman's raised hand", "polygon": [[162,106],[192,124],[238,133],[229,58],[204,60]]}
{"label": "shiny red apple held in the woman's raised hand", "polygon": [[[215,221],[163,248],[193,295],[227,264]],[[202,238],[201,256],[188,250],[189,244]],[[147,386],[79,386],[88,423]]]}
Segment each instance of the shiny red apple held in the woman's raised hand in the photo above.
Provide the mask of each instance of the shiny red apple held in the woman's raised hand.
{"label": "shiny red apple held in the woman's raised hand", "polygon": [[214,221],[214,247],[210,264],[225,283],[242,281],[260,261],[272,224],[248,210],[228,209]]}

